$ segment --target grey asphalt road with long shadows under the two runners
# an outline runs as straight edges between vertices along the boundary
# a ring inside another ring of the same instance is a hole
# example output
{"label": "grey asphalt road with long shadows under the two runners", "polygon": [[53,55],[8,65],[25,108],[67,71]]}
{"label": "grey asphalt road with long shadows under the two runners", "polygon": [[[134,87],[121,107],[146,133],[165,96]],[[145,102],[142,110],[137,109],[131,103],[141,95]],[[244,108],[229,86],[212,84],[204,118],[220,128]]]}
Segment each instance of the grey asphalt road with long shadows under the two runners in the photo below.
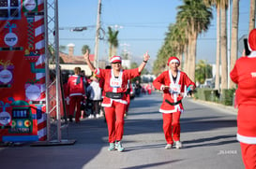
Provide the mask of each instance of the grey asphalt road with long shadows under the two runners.
{"label": "grey asphalt road with long shadows under the two runners", "polygon": [[235,139],[236,110],[184,100],[181,141],[184,148],[165,149],[158,92],[131,101],[125,120],[124,152],[108,151],[103,119],[82,120],[62,130],[69,146],[0,147],[1,169],[242,169],[241,150]]}

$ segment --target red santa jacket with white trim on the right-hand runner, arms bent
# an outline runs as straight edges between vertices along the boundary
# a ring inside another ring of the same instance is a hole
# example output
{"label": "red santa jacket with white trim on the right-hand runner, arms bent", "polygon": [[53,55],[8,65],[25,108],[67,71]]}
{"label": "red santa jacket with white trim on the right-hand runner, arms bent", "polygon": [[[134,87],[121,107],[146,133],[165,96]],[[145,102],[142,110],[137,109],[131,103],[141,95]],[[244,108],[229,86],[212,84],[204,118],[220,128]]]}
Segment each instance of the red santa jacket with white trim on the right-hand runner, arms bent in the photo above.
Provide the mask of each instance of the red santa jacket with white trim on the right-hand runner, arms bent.
{"label": "red santa jacket with white trim on the right-hand runner, arms bent", "polygon": [[[170,77],[171,75],[171,77]],[[179,92],[184,93],[187,92],[188,86],[193,85],[195,87],[195,83],[184,73],[178,71],[176,81],[173,82],[171,70],[164,71],[161,73],[154,81],[153,86],[157,90],[161,90],[162,86],[176,86]],[[172,87],[173,88],[173,87]],[[173,94],[169,90],[163,91],[163,102],[160,106],[159,112],[161,113],[174,113],[176,111],[183,111],[182,103],[180,102],[183,99],[183,94]],[[165,100],[168,100],[170,103],[178,103],[176,106],[171,106]]]}

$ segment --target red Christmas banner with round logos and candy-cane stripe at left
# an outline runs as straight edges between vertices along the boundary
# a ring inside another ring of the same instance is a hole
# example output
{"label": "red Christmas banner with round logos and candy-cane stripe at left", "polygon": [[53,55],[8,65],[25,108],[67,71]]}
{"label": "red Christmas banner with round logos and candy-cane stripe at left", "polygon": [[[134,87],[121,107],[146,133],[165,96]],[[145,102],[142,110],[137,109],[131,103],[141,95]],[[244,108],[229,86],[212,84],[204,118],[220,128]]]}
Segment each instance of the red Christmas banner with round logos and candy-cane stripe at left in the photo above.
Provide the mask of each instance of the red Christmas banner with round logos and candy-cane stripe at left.
{"label": "red Christmas banner with round logos and candy-cane stripe at left", "polygon": [[0,141],[46,139],[43,3],[0,1]]}

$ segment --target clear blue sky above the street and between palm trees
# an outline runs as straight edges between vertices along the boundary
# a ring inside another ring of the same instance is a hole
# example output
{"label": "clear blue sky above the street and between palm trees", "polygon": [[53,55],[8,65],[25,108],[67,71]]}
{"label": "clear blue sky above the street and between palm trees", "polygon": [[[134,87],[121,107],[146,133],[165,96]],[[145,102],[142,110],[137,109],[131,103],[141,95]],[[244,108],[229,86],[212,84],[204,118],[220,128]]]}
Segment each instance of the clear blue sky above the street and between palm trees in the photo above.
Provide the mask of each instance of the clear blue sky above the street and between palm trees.
{"label": "clear blue sky above the street and between palm trees", "polygon": [[[101,0],[101,27],[107,35],[108,26],[118,25],[119,55],[128,49],[133,61],[143,60],[148,51],[151,63],[157,58],[170,23],[175,22],[176,7],[181,0]],[[98,0],[60,0],[60,45],[75,44],[75,55],[82,55],[82,46],[88,45],[91,53],[95,48]],[[197,60],[215,63],[216,58],[216,10],[206,33],[199,35]],[[249,0],[240,1],[239,37],[248,35]],[[88,26],[83,32],[70,32],[69,28]],[[98,58],[107,59],[107,36],[100,40]],[[67,51],[68,52],[68,51]]]}

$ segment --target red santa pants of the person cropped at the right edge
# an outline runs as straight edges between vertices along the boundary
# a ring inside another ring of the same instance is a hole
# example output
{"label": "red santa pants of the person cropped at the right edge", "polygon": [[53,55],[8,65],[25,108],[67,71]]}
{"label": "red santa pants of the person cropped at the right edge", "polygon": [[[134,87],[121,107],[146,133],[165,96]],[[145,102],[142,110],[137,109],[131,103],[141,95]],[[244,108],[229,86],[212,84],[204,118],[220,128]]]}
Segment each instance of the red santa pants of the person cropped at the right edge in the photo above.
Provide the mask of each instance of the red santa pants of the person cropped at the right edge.
{"label": "red santa pants of the person cropped at the right edge", "polygon": [[246,169],[256,169],[256,145],[241,143],[242,158]]}

